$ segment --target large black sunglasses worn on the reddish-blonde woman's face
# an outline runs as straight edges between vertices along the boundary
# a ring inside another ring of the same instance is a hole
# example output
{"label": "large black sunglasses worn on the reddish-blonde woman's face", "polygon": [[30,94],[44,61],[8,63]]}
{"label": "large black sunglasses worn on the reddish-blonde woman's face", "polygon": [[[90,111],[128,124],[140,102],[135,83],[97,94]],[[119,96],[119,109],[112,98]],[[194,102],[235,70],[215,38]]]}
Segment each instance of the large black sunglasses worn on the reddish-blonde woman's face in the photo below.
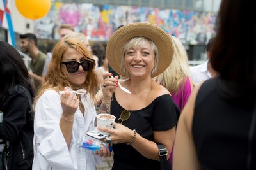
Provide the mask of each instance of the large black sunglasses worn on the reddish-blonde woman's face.
{"label": "large black sunglasses worn on the reddish-blonde woman's face", "polygon": [[77,61],[61,62],[61,64],[66,65],[68,73],[76,73],[77,70],[79,69],[79,66],[82,66],[84,71],[91,71],[95,63],[90,60],[83,60],[82,62],[77,62]]}

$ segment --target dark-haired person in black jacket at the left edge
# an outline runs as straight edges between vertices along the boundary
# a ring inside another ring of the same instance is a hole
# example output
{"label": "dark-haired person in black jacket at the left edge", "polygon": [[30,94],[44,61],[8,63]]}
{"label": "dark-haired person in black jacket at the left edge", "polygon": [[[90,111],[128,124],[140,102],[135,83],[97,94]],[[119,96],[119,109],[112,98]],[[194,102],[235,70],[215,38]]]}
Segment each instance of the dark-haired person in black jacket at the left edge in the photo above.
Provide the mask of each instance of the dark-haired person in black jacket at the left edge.
{"label": "dark-haired person in black jacket at the left edge", "polygon": [[[12,45],[0,41],[0,155],[2,169],[31,169],[33,162],[34,89],[22,56]],[[1,169],[1,166],[0,166]]]}

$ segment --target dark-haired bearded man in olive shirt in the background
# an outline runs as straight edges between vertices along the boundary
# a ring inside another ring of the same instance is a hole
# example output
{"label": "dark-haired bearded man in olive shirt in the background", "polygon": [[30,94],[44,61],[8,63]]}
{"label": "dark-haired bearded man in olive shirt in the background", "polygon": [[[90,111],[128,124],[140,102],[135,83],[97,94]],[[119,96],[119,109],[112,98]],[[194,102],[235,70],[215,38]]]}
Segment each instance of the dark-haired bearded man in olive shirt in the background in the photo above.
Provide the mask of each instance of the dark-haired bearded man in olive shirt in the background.
{"label": "dark-haired bearded man in olive shirt in the background", "polygon": [[37,46],[37,38],[35,34],[21,34],[20,35],[20,48],[22,52],[28,53],[29,57],[31,57],[31,71],[29,71],[29,75],[34,80],[35,89],[38,90],[42,83],[42,72],[45,64],[45,60],[47,59],[47,55],[42,53]]}

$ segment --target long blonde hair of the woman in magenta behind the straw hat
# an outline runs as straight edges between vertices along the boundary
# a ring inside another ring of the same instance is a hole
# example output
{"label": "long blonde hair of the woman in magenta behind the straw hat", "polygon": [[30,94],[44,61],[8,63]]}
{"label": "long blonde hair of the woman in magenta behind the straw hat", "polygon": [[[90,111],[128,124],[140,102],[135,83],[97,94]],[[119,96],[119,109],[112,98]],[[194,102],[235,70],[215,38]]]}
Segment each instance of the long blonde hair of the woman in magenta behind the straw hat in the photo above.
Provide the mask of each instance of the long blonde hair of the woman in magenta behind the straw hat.
{"label": "long blonde hair of the woman in magenta behind the straw hat", "polygon": [[171,94],[177,94],[180,87],[186,82],[186,78],[191,76],[191,73],[189,70],[188,55],[184,46],[178,38],[171,37],[174,46],[172,63],[163,73],[156,76],[154,80],[163,85]]}

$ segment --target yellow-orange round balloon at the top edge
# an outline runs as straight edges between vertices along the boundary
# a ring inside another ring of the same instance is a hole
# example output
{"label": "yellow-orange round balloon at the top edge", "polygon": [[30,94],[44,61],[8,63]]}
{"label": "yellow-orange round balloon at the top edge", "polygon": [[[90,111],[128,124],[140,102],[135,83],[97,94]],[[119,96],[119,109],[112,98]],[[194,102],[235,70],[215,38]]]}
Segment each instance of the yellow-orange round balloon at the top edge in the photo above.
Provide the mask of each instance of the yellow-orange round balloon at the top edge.
{"label": "yellow-orange round balloon at the top edge", "polygon": [[31,20],[43,18],[51,8],[51,0],[15,0],[21,15]]}

